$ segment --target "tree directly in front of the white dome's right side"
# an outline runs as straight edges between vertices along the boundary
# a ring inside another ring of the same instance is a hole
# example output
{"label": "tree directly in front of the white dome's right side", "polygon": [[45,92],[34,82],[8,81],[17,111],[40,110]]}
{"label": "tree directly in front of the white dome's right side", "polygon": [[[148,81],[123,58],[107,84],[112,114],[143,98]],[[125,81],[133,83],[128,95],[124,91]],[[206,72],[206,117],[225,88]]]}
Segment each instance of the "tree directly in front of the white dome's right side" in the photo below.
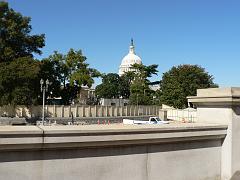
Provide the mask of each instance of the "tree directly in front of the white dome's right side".
{"label": "tree directly in front of the white dome's right side", "polygon": [[130,103],[134,105],[149,105],[153,101],[153,91],[149,88],[151,84],[148,78],[157,75],[158,65],[153,64],[145,66],[143,64],[134,64],[134,78],[130,85]]}

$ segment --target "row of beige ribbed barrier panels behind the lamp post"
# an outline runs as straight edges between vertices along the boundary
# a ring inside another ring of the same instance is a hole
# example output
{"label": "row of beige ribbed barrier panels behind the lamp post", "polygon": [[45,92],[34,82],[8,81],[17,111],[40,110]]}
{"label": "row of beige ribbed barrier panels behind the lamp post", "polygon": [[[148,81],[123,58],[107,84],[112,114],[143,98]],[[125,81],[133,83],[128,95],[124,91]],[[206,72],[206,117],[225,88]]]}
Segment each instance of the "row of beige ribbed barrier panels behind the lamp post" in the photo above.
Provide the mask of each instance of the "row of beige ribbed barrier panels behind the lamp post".
{"label": "row of beige ribbed barrier panels behind the lamp post", "polygon": [[[71,114],[78,117],[119,117],[119,116],[159,116],[163,110],[159,106],[61,106],[46,105],[45,116],[69,118]],[[11,117],[41,117],[42,106],[2,106],[0,116]]]}

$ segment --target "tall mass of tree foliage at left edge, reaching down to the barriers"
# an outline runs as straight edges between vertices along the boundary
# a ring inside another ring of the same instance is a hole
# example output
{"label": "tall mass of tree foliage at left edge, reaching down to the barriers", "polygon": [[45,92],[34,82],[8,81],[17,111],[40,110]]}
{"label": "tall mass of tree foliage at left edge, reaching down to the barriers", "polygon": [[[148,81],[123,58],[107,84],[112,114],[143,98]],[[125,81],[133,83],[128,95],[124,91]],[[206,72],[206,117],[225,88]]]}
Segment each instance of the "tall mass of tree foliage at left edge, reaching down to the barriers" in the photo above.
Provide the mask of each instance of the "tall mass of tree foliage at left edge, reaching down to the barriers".
{"label": "tall mass of tree foliage at left edge, reaching down to the barriers", "polygon": [[[33,104],[39,87],[39,62],[44,35],[32,35],[30,18],[0,2],[0,104]],[[38,82],[38,84],[36,83]]]}

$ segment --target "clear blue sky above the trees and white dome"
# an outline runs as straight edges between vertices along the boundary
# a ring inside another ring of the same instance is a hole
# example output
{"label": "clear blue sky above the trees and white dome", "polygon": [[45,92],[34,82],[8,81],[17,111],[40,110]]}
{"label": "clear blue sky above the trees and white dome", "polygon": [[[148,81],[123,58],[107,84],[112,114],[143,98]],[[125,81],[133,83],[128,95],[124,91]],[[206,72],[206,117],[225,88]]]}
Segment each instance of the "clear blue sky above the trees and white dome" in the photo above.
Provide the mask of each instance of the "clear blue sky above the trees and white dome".
{"label": "clear blue sky above the trees and white dome", "polygon": [[[197,64],[220,87],[240,86],[239,0],[9,0],[32,18],[32,34],[46,36],[38,59],[81,49],[90,67],[117,73],[130,40],[158,76]],[[96,83],[99,83],[97,80]]]}

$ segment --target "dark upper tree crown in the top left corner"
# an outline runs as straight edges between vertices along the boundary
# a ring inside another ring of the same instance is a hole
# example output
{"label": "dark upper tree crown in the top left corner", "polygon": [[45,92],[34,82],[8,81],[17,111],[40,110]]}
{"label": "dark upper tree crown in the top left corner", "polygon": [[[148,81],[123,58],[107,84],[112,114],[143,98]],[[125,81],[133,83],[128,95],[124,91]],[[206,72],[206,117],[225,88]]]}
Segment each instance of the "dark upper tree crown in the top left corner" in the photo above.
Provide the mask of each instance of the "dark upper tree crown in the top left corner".
{"label": "dark upper tree crown in the top left corner", "polygon": [[7,2],[0,2],[0,62],[41,54],[44,35],[32,35],[30,21],[30,17],[9,8]]}

